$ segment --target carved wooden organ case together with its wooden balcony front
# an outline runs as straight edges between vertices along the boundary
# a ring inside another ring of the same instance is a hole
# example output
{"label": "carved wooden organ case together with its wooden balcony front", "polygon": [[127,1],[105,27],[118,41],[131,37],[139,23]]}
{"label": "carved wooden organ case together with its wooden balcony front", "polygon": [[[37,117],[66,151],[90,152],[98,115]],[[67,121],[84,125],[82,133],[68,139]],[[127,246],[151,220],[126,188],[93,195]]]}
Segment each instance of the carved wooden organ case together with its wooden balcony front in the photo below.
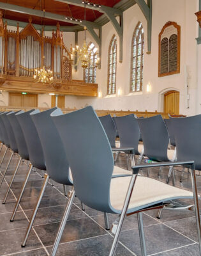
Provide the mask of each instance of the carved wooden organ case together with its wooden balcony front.
{"label": "carved wooden organ case together with its wooden balcony front", "polygon": [[[98,85],[72,79],[70,53],[63,42],[57,23],[52,37],[36,31],[32,19],[19,32],[7,29],[0,11],[0,90],[8,92],[56,93],[63,95],[97,96]],[[45,57],[45,58],[44,58]],[[53,72],[53,83],[35,83],[34,69],[45,65]]]}

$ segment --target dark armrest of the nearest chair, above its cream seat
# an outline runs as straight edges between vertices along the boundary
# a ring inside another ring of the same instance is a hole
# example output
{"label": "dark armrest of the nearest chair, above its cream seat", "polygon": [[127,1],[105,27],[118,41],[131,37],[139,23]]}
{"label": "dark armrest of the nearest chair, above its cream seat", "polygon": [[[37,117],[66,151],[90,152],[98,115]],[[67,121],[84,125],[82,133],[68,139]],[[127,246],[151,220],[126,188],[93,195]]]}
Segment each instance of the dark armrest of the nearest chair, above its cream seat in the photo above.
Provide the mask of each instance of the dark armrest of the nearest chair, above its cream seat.
{"label": "dark armrest of the nearest chair, above its cream seat", "polygon": [[175,165],[186,165],[191,170],[194,169],[194,161],[175,161],[175,162],[157,162],[157,163],[149,163],[149,164],[136,164],[135,166],[131,166],[133,170],[133,174],[138,174],[141,168],[151,168],[151,167],[161,167],[161,166],[175,166]]}

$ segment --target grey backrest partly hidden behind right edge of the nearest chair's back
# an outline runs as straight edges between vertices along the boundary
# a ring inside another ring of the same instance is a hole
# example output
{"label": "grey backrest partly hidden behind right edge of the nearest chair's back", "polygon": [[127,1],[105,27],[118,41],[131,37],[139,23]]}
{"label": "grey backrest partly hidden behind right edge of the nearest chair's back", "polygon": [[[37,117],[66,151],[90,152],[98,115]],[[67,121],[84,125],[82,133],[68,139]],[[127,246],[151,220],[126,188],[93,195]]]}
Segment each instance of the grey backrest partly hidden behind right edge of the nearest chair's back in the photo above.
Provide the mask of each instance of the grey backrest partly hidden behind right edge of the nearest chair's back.
{"label": "grey backrest partly hidden behind right edge of the nearest chair's back", "polygon": [[107,138],[110,141],[110,145],[112,148],[115,148],[115,138],[117,136],[117,130],[114,124],[114,121],[112,120],[112,116],[106,115],[106,116],[100,116],[100,122],[103,125],[103,128],[105,129],[105,132],[107,134]]}

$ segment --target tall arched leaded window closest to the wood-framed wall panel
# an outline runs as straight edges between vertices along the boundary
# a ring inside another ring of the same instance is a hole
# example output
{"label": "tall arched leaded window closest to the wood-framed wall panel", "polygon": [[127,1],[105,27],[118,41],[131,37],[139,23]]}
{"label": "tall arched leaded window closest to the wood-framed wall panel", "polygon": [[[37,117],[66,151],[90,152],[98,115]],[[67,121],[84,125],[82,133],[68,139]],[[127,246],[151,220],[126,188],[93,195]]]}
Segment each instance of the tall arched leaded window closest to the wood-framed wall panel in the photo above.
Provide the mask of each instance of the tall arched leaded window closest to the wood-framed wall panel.
{"label": "tall arched leaded window closest to the wood-framed wall panel", "polygon": [[138,22],[133,33],[131,45],[131,92],[142,91],[144,65],[144,28]]}

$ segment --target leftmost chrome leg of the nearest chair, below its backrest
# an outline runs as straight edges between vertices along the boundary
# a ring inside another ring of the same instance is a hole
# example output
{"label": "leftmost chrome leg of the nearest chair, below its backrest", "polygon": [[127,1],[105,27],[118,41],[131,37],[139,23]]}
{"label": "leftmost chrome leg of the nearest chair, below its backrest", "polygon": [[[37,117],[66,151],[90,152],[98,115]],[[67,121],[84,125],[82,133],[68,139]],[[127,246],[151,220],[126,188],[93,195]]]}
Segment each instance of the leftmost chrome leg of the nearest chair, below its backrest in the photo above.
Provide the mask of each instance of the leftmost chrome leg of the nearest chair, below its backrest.
{"label": "leftmost chrome leg of the nearest chair, below its backrest", "polygon": [[70,193],[68,204],[66,205],[66,209],[65,209],[65,212],[64,212],[64,215],[63,215],[63,219],[61,220],[61,224],[59,226],[59,230],[57,232],[57,236],[56,236],[56,239],[54,241],[52,251],[50,252],[50,256],[55,256],[56,253],[57,253],[57,248],[59,246],[59,242],[61,240],[61,236],[63,234],[63,230],[64,230],[64,227],[66,225],[66,221],[68,220],[68,215],[70,214],[70,210],[71,210],[71,206],[73,204],[74,198],[75,198],[75,190],[73,188],[71,193]]}

